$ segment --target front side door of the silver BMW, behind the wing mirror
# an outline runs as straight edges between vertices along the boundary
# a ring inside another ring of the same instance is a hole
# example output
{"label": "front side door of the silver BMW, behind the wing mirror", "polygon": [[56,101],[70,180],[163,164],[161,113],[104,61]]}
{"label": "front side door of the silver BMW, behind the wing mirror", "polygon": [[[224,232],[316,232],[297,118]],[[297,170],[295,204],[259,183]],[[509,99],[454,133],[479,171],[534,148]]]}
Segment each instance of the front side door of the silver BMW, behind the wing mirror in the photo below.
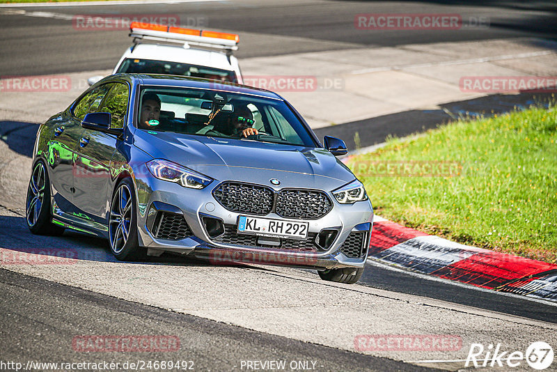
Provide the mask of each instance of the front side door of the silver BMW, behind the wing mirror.
{"label": "front side door of the silver BMW, behind the wing mirror", "polygon": [[[109,112],[111,127],[123,128],[126,120],[129,88],[127,84],[107,84],[108,93],[91,112]],[[76,148],[74,164],[74,204],[82,219],[107,224],[107,212],[112,194],[110,162],[120,141],[114,134],[84,129]]]}

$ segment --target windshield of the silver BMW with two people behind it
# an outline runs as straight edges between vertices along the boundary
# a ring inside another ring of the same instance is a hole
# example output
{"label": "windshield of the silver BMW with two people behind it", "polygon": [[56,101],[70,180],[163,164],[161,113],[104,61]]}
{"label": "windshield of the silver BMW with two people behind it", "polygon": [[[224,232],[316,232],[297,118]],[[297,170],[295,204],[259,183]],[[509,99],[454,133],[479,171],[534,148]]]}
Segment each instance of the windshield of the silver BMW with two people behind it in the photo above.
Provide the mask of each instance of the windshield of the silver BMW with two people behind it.
{"label": "windshield of the silver BMW with two people behind it", "polygon": [[240,93],[143,88],[136,123],[154,132],[316,146],[285,102]]}

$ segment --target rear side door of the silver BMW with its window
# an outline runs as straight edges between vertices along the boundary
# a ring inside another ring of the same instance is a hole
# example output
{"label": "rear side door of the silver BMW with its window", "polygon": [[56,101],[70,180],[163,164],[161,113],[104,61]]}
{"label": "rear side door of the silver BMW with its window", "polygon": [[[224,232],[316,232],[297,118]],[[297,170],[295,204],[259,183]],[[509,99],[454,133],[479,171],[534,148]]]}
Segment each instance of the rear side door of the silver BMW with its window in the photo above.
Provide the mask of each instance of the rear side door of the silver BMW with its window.
{"label": "rear side door of the silver BMW with its window", "polygon": [[75,150],[83,128],[81,120],[87,114],[94,102],[102,100],[106,91],[104,88],[95,88],[77,102],[65,113],[64,120],[56,123],[54,136],[48,144],[47,162],[52,183],[52,197],[54,199],[54,212],[74,214],[74,160]]}

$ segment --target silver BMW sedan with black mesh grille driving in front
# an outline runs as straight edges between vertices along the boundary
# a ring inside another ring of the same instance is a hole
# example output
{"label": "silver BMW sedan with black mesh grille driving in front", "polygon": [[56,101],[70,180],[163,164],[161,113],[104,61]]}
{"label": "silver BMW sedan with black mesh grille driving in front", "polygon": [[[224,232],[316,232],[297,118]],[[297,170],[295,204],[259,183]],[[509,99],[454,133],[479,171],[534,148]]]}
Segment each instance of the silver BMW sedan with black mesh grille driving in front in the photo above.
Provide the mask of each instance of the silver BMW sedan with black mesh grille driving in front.
{"label": "silver BMW sedan with black mesh grille driving in front", "polygon": [[108,238],[120,260],[165,251],[216,264],[363,273],[372,206],[276,93],[209,79],[118,74],[40,125],[26,199],[36,234]]}

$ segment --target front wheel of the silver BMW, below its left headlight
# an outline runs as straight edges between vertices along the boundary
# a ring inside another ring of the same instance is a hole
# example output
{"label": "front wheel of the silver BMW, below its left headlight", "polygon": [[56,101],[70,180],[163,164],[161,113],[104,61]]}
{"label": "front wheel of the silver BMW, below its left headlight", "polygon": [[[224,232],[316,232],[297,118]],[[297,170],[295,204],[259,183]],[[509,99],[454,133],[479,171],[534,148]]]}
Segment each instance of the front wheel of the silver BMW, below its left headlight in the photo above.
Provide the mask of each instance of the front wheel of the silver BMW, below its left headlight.
{"label": "front wheel of the silver BMW, below its left headlight", "polygon": [[130,178],[118,183],[112,197],[109,217],[110,250],[120,261],[145,257],[137,238],[137,215],[134,185]]}

